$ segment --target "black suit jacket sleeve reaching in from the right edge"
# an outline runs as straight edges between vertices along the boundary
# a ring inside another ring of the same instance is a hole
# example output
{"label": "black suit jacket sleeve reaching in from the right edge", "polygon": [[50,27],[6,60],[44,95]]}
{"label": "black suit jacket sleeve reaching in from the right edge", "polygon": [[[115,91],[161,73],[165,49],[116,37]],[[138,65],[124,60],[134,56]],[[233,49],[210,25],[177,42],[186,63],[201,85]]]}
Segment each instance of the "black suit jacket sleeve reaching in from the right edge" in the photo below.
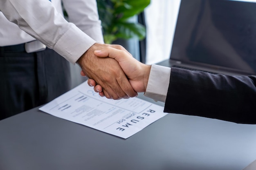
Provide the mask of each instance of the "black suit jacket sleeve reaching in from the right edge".
{"label": "black suit jacket sleeve reaching in from the right edge", "polygon": [[171,68],[164,112],[256,124],[256,77]]}

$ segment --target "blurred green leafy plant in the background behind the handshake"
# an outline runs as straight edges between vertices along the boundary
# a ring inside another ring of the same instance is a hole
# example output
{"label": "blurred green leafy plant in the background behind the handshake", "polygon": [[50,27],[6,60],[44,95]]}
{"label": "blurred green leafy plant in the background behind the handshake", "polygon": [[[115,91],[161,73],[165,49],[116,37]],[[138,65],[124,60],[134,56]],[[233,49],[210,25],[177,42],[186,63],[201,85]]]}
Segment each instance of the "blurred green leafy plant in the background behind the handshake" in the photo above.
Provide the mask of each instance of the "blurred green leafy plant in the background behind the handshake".
{"label": "blurred green leafy plant in the background behind the handshake", "polygon": [[144,39],[145,27],[130,22],[129,18],[141,13],[148,4],[150,0],[97,0],[105,43],[111,44],[117,39]]}

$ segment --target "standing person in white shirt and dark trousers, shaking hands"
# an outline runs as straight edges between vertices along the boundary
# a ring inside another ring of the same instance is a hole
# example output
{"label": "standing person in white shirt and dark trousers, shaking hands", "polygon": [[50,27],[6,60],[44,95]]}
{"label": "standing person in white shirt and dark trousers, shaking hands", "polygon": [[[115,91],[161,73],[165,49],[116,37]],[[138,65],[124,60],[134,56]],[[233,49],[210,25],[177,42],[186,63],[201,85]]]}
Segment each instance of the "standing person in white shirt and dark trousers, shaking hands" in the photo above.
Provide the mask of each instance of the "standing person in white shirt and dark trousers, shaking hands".
{"label": "standing person in white shirt and dark trousers, shaking hands", "polygon": [[62,57],[79,64],[109,97],[137,95],[115,60],[93,54],[108,46],[96,0],[62,1],[70,22],[63,18],[61,0],[0,0],[0,119],[69,90],[70,68]]}

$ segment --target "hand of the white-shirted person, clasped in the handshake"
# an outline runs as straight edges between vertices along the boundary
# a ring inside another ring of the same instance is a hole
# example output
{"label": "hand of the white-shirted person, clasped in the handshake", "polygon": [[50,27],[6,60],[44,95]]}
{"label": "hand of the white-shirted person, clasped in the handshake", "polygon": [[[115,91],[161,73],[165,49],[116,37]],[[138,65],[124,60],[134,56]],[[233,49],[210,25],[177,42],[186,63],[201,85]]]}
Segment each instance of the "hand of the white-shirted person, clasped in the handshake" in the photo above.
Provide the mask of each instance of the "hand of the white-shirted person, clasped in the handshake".
{"label": "hand of the white-shirted person, clasped in the handshake", "polygon": [[114,49],[124,51],[130,55],[124,47],[110,44],[94,44],[77,61],[81,66],[84,75],[94,79],[102,87],[104,95],[108,99],[121,99],[137,96],[137,93],[130,85],[124,71],[118,62],[112,58],[97,57],[95,50],[101,50],[111,46]]}

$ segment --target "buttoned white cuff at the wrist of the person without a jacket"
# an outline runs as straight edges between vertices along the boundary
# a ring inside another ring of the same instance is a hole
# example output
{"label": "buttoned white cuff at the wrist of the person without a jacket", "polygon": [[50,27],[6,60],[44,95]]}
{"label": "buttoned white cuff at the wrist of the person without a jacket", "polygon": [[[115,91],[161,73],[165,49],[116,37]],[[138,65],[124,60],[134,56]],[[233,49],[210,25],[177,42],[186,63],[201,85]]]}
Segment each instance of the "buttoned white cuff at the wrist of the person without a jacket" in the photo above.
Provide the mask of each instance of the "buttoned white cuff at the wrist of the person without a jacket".
{"label": "buttoned white cuff at the wrist of the person without a jacket", "polygon": [[75,64],[83,53],[95,43],[95,40],[74,25],[61,36],[53,49],[66,60]]}

